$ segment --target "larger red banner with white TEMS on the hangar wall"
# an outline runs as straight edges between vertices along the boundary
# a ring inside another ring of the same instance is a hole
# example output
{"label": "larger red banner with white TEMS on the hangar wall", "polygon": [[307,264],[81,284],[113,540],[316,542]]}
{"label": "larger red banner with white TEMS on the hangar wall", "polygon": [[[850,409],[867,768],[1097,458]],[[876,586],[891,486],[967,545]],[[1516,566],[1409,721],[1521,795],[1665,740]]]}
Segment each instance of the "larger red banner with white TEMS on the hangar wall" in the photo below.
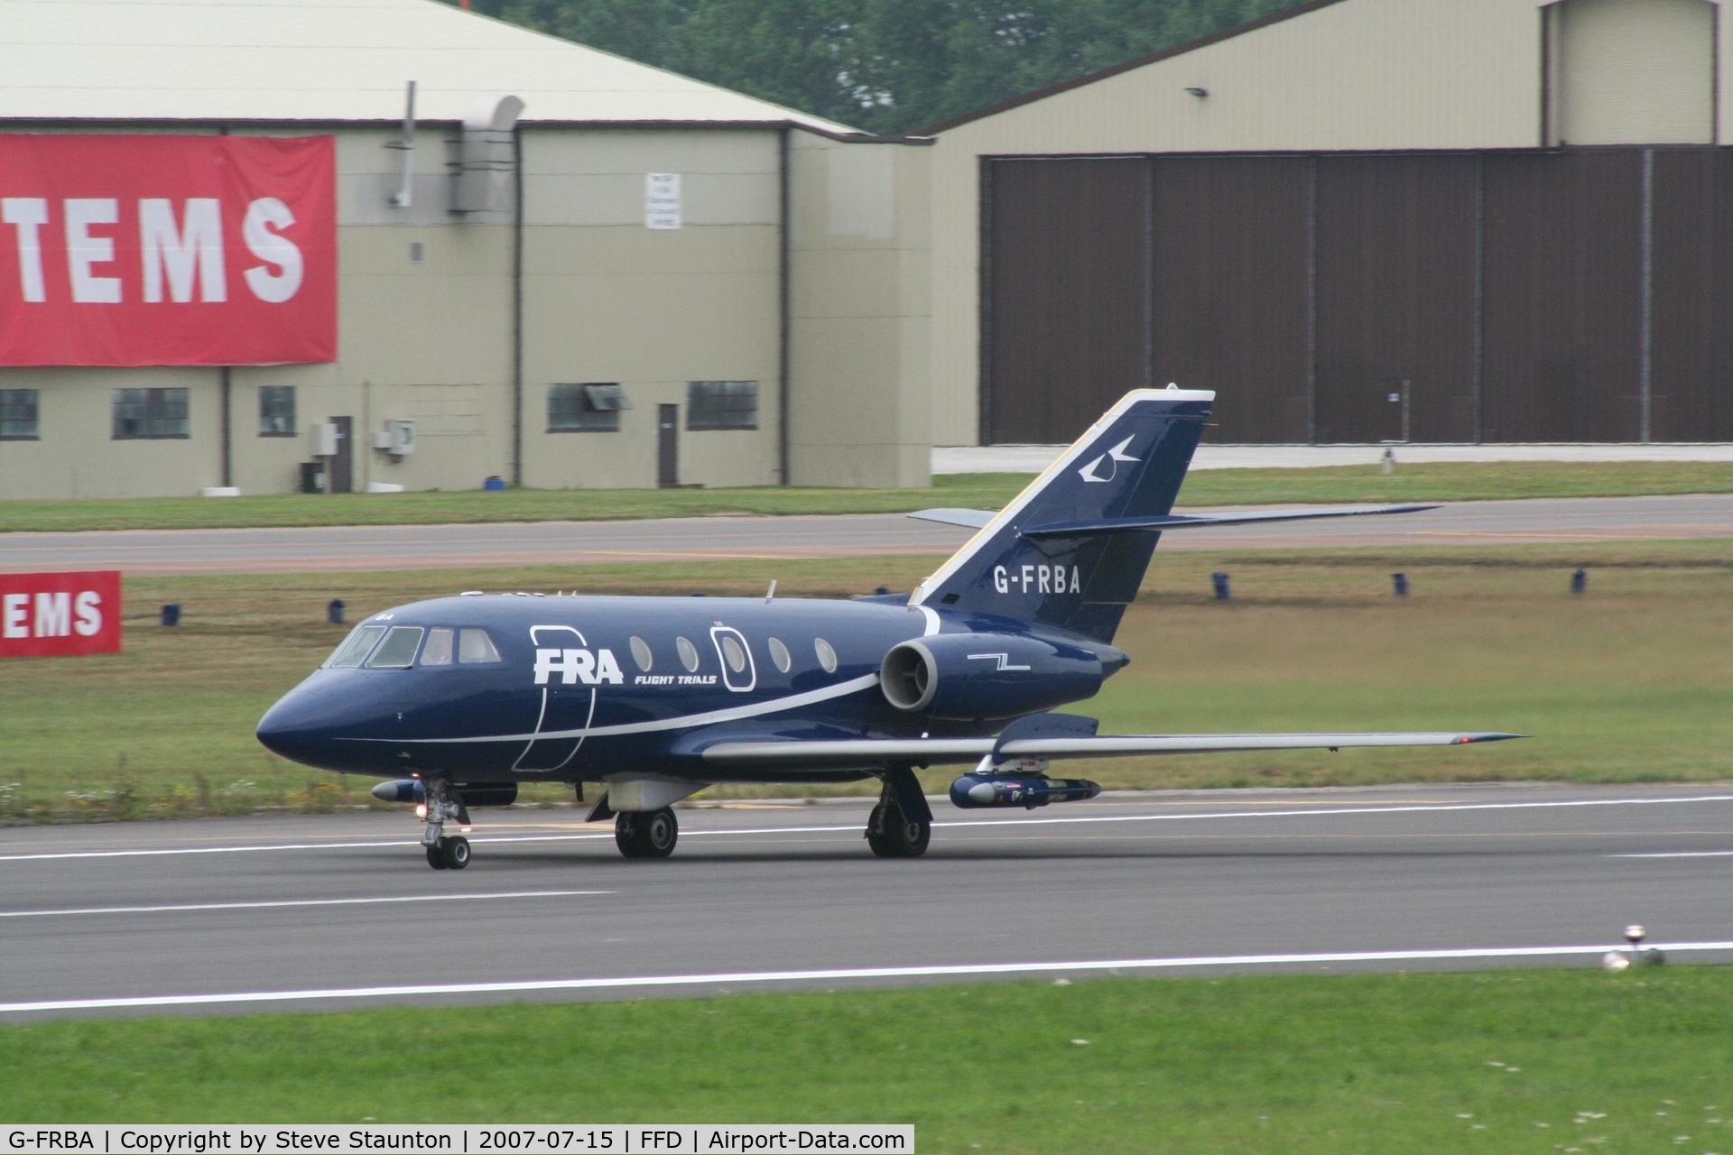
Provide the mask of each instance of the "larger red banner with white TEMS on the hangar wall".
{"label": "larger red banner with white TEMS on the hangar wall", "polygon": [[0,133],[0,365],[336,360],[331,137]]}

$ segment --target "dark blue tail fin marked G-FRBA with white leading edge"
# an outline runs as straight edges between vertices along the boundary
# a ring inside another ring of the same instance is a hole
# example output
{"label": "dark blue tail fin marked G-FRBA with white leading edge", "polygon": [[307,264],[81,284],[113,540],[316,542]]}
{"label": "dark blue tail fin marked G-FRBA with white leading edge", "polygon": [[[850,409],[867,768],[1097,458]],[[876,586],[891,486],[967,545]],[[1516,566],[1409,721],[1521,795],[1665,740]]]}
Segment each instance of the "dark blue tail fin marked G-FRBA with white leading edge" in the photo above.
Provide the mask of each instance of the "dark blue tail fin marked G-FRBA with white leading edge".
{"label": "dark blue tail fin marked G-FRBA with white leading edge", "polygon": [[1024,532],[1165,516],[1213,400],[1215,393],[1194,390],[1126,393],[922,582],[910,604],[974,610],[1113,641],[1161,533],[1109,526],[1078,526],[1064,537]]}

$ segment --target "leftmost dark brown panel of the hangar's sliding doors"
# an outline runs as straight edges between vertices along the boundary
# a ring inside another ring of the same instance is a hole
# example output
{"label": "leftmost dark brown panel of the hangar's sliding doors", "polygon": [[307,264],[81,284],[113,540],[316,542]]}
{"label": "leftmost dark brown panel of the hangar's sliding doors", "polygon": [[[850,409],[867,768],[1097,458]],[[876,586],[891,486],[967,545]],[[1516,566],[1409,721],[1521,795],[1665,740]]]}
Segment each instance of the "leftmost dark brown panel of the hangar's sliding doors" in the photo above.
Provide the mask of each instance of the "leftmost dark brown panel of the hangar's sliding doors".
{"label": "leftmost dark brown panel of the hangar's sliding doors", "polygon": [[983,180],[981,442],[1071,442],[1149,379],[1149,161],[991,159]]}

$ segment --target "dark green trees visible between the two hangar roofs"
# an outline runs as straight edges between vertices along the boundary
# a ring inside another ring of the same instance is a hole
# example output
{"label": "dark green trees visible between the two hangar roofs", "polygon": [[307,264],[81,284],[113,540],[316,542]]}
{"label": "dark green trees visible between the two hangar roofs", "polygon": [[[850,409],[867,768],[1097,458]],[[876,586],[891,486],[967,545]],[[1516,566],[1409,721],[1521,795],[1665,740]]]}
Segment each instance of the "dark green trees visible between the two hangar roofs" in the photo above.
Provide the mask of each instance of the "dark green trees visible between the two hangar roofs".
{"label": "dark green trees visible between the two hangar roofs", "polygon": [[901,133],[1298,2],[471,0],[471,7],[854,128]]}

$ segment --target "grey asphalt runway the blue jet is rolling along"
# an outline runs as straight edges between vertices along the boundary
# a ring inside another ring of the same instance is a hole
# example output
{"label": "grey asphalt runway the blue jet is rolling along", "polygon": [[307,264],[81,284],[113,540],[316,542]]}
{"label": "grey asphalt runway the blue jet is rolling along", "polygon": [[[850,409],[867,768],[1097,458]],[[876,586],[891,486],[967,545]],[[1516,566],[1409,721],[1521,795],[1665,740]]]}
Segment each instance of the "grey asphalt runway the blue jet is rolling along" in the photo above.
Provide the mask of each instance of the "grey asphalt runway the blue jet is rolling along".
{"label": "grey asphalt runway the blue jet is rolling along", "polygon": [[428,869],[407,812],[14,828],[0,1018],[1591,965],[1627,923],[1733,961],[1733,784],[936,812],[918,861],[870,855],[865,800],[683,809],[667,861],[572,810],[484,812],[466,871]]}

